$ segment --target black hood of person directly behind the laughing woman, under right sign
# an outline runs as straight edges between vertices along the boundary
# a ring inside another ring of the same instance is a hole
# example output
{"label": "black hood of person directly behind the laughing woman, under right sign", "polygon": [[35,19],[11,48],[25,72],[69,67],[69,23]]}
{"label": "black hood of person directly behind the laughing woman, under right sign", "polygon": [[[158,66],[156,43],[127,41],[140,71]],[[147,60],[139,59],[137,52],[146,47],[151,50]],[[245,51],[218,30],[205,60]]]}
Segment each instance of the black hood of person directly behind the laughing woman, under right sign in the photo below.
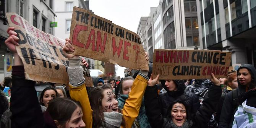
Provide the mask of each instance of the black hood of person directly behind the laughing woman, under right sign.
{"label": "black hood of person directly behind the laughing woman, under right sign", "polygon": [[178,88],[177,91],[169,91],[165,86],[165,80],[160,80],[161,84],[163,85],[164,89],[166,90],[167,94],[173,97],[180,96],[185,91],[185,82],[183,80],[173,80]]}

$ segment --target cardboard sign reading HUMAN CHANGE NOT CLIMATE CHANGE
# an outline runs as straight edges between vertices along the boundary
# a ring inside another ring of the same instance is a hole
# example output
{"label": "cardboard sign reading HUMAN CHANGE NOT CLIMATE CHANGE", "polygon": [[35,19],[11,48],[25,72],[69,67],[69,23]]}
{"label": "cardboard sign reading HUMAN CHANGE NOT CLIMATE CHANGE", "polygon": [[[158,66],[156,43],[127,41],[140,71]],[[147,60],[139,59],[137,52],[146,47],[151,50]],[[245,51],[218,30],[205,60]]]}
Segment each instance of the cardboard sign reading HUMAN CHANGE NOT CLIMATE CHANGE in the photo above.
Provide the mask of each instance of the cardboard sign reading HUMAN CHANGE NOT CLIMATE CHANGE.
{"label": "cardboard sign reading HUMAN CHANGE NOT CLIMATE CHANGE", "polygon": [[159,79],[225,78],[230,62],[231,52],[155,49],[152,73]]}

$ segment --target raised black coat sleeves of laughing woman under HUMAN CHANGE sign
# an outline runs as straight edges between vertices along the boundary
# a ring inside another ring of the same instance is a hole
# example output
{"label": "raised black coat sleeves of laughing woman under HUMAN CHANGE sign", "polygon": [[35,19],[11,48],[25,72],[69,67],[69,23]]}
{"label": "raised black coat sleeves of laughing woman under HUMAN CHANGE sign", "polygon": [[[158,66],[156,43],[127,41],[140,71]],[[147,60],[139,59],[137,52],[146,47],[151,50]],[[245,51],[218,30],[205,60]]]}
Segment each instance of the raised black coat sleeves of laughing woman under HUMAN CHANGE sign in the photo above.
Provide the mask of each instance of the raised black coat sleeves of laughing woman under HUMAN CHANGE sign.
{"label": "raised black coat sleeves of laughing woman under HUMAN CHANGE sign", "polygon": [[[147,91],[148,89],[148,91]],[[208,90],[208,97],[206,97],[203,101],[202,107],[198,109],[191,120],[193,125],[191,128],[207,128],[208,122],[211,118],[212,113],[216,109],[216,104],[219,101],[221,96],[222,89],[220,86],[211,86]],[[166,122],[164,122],[164,118],[161,114],[161,107],[159,104],[156,86],[146,88],[146,92],[144,94],[145,99],[145,107],[146,107],[146,115],[149,118],[149,122],[151,123],[152,128],[162,128]],[[166,128],[170,128],[170,126],[165,126]]]}

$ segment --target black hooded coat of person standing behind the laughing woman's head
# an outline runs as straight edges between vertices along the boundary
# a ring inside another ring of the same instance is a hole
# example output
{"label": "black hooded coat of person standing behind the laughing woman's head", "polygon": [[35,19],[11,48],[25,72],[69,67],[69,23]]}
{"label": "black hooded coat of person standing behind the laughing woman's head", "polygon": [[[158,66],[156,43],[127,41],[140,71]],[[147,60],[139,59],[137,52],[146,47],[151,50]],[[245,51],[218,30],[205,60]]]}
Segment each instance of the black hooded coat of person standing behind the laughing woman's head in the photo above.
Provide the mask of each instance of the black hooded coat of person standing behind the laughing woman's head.
{"label": "black hooded coat of person standing behind the laughing woman's head", "polygon": [[[163,117],[166,117],[167,114],[167,109],[169,108],[170,104],[177,99],[185,99],[185,102],[191,107],[190,108],[190,113],[191,115],[194,115],[194,113],[197,112],[199,107],[201,106],[199,103],[199,98],[194,94],[193,92],[190,91],[184,91],[185,90],[185,84],[183,80],[174,80],[175,83],[178,85],[178,90],[177,91],[168,91],[165,87],[163,86],[166,90],[166,92],[161,93],[159,95],[159,103],[161,106],[161,113]],[[165,83],[164,80],[161,80],[162,85]],[[146,90],[147,91],[147,90]]]}

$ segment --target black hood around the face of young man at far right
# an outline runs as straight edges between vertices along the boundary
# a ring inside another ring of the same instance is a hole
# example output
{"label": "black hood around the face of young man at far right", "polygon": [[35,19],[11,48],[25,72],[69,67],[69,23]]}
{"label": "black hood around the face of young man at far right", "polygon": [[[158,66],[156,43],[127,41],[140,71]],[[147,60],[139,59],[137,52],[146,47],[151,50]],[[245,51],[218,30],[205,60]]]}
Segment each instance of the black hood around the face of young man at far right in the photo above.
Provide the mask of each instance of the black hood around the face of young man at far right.
{"label": "black hood around the face of young man at far right", "polygon": [[[246,64],[246,65],[241,65],[238,69],[237,69],[237,76],[238,76],[238,71],[241,69],[241,68],[246,68],[247,70],[250,71],[251,73],[251,83],[254,83],[254,85],[256,85],[256,70],[254,68],[253,65],[249,65],[249,64]],[[238,78],[237,78],[238,80]],[[238,83],[238,89],[241,91],[241,92],[246,92],[246,86],[243,86],[240,84],[239,80],[237,81]],[[249,86],[249,89],[252,89],[253,88],[253,84],[251,84]]]}

